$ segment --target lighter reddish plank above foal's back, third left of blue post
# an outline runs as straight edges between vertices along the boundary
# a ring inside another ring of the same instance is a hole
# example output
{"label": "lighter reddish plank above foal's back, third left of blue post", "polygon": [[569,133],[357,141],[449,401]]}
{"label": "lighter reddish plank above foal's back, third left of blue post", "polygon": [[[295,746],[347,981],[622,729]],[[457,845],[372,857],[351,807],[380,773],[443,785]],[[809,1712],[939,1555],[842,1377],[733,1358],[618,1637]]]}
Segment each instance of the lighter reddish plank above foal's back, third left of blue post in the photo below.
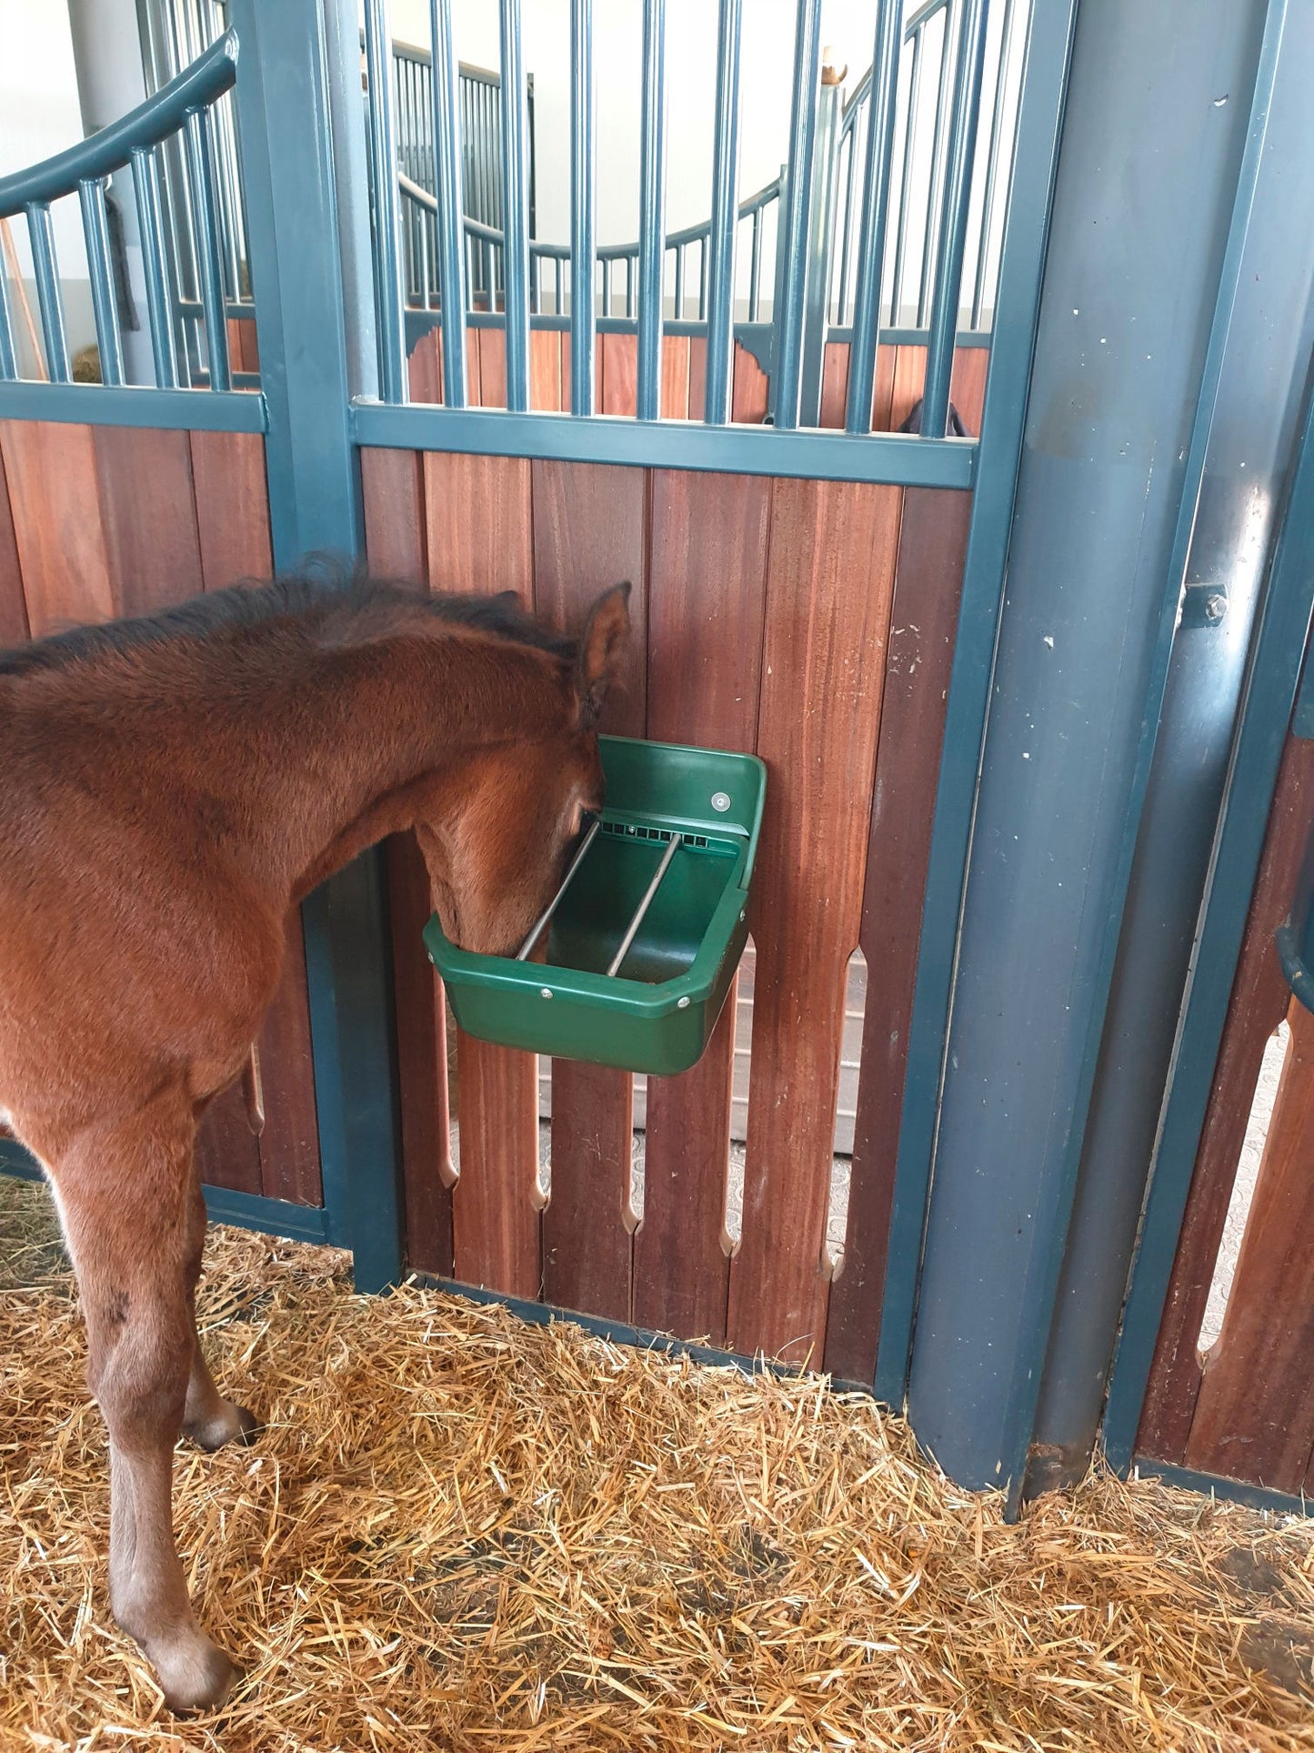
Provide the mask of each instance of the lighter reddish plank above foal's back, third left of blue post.
{"label": "lighter reddish plank above foal's back, third left of blue post", "polygon": [[89,426],[0,421],[14,545],[33,638],[116,614]]}

